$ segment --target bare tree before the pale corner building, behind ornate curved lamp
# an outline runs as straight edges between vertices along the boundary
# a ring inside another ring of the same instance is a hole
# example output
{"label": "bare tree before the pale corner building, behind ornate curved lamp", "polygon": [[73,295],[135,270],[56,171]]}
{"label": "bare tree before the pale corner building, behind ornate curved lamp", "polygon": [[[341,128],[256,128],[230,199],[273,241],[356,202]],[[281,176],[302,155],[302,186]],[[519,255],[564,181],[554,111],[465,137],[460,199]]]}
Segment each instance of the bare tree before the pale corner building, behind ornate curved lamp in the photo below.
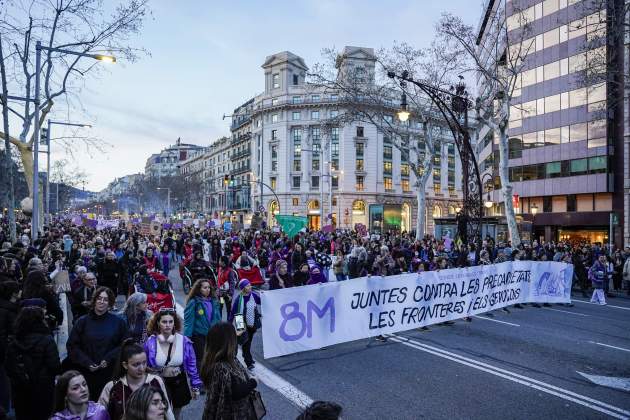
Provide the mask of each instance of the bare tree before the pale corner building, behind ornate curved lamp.
{"label": "bare tree before the pale corner building, behind ornate curved lamp", "polygon": [[[417,239],[426,232],[426,188],[433,172],[435,151],[449,141],[449,137],[437,108],[415,86],[403,89],[410,102],[412,119],[407,122],[394,119],[400,104],[401,86],[389,79],[387,72],[408,71],[430,80],[435,87],[447,87],[457,72],[458,60],[455,55],[449,56],[440,50],[437,43],[427,49],[395,44],[391,49],[380,50],[375,57],[376,67],[371,73],[365,73],[361,68],[346,69],[345,57],[334,49],[326,49],[323,51],[324,62],[316,64],[310,74],[313,85],[336,93],[344,109],[337,117],[327,120],[327,126],[339,127],[353,122],[373,124],[408,163],[415,177]],[[453,141],[452,137],[450,141]]]}

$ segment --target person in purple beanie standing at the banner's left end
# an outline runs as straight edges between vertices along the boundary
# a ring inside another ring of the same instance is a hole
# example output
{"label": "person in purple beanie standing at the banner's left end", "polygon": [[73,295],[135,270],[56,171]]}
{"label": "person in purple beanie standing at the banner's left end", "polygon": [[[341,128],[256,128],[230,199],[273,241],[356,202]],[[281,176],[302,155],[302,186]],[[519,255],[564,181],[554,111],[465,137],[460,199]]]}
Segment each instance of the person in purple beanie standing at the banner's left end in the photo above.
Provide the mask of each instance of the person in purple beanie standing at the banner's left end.
{"label": "person in purple beanie standing at the banner's left end", "polygon": [[243,318],[245,329],[239,330],[237,328],[236,334],[239,335],[239,343],[241,344],[243,359],[245,359],[247,369],[252,370],[255,364],[251,352],[252,340],[254,339],[254,334],[261,326],[260,296],[252,290],[252,285],[247,279],[241,279],[238,282],[238,291],[239,293],[234,295],[232,311],[228,320],[234,322],[237,316]]}

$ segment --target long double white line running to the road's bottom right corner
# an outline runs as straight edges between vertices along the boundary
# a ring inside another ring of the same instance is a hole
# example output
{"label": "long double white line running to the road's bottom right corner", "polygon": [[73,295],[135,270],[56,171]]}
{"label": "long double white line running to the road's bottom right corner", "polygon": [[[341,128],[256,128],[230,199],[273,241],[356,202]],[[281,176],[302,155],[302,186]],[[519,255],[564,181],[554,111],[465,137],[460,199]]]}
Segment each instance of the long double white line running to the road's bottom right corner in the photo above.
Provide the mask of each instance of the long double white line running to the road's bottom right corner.
{"label": "long double white line running to the road's bottom right corner", "polygon": [[492,375],[507,379],[512,382],[516,382],[525,385],[529,388],[537,389],[550,395],[555,395],[567,401],[574,402],[600,413],[607,414],[617,419],[630,419],[630,411],[620,407],[615,407],[603,401],[599,401],[585,395],[577,394],[569,391],[568,389],[560,388],[546,382],[538,381],[528,376],[520,375],[515,372],[511,372],[506,369],[502,369],[488,363],[480,362],[478,360],[459,355],[457,353],[449,352],[438,347],[429,346],[419,341],[411,340],[406,337],[400,337],[393,334],[387,334],[390,340],[403,344],[405,346],[421,350],[426,353],[433,354],[444,359],[452,360],[456,363],[472,367],[473,369],[481,370],[483,372],[490,373]]}

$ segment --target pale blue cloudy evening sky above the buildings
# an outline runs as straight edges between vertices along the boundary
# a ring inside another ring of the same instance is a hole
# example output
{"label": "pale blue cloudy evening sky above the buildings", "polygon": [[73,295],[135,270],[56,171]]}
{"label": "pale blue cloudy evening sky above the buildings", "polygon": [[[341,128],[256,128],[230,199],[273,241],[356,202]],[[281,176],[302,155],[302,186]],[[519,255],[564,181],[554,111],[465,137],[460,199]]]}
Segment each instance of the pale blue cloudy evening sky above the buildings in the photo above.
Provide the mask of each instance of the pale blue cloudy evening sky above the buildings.
{"label": "pale blue cloudy evening sky above the buildings", "polygon": [[104,154],[75,153],[90,190],[142,172],[151,153],[178,137],[208,145],[228,135],[221,117],[264,89],[268,55],[289,50],[312,66],[326,47],[427,46],[442,12],[476,25],[481,0],[154,0],[152,11],[132,41],[151,56],[111,65],[81,93],[90,134],[107,144]]}

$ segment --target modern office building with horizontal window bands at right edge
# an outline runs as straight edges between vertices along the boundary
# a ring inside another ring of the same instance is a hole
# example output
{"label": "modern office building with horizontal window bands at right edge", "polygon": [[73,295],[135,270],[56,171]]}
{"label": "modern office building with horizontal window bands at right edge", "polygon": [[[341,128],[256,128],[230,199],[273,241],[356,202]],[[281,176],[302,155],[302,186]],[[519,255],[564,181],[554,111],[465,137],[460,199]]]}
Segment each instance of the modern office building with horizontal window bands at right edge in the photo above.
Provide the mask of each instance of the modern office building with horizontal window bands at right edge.
{"label": "modern office building with horizontal window bands at right edge", "polygon": [[[507,38],[497,57],[527,51],[511,99],[509,170],[517,213],[533,222],[534,239],[628,243],[622,229],[628,127],[623,89],[612,82],[623,71],[623,57],[611,50],[623,51],[623,38],[620,45],[611,27],[613,3],[619,2],[486,2],[479,45],[496,30],[487,16],[504,13]],[[606,57],[605,69],[597,69],[603,73],[599,80],[585,73],[594,71],[598,57]],[[494,58],[489,65],[496,64]],[[480,139],[480,167],[496,179],[497,142],[488,129]],[[499,204],[490,215],[502,214],[501,194],[492,197]]]}

